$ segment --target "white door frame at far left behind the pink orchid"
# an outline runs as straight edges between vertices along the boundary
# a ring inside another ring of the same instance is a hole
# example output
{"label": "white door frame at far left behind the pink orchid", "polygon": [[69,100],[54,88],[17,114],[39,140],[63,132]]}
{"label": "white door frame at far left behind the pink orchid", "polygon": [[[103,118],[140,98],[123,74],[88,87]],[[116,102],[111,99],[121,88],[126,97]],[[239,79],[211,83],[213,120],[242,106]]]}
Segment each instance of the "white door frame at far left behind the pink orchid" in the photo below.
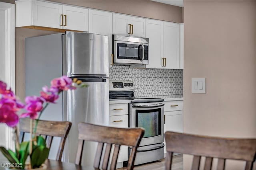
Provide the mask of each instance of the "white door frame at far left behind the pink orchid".
{"label": "white door frame at far left behind the pink orchid", "polygon": [[[5,18],[4,21],[0,21],[0,24],[5,25],[5,30],[1,30],[5,31],[5,81],[15,92],[15,5],[0,2],[0,10],[4,11]],[[5,147],[14,150],[12,128],[5,126],[5,134],[1,135],[5,135]]]}

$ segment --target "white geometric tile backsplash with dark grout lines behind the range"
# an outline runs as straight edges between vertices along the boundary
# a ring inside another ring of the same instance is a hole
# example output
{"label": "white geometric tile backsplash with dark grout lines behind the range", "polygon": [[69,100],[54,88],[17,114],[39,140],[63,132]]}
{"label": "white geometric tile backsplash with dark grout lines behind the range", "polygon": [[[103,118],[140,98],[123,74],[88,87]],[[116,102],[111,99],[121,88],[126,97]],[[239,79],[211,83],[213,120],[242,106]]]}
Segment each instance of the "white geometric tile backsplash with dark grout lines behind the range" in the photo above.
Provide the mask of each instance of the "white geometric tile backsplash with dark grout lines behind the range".
{"label": "white geometric tile backsplash with dark grout lines behind the range", "polygon": [[109,68],[109,79],[134,81],[136,97],[183,94],[183,70],[179,69],[140,69],[114,65]]}

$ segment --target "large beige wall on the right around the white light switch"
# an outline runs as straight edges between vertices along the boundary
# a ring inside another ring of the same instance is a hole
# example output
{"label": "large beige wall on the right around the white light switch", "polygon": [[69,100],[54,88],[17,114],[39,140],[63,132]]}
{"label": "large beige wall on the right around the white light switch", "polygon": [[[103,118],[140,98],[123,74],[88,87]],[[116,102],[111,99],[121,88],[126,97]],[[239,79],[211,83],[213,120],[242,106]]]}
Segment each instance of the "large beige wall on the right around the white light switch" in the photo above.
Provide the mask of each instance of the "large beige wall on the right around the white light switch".
{"label": "large beige wall on the right around the white light switch", "polygon": [[[256,1],[186,0],[184,29],[184,132],[255,138]],[[206,94],[191,93],[192,77]]]}

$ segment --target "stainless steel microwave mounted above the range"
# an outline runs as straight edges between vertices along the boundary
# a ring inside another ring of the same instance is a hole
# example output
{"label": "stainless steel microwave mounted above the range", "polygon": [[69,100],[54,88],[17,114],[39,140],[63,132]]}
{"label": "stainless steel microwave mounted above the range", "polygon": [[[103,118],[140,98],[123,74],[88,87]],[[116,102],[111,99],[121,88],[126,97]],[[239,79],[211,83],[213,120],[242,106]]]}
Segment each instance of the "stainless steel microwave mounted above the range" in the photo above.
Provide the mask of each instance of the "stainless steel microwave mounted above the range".
{"label": "stainless steel microwave mounted above the range", "polygon": [[112,64],[148,64],[148,38],[113,35]]}

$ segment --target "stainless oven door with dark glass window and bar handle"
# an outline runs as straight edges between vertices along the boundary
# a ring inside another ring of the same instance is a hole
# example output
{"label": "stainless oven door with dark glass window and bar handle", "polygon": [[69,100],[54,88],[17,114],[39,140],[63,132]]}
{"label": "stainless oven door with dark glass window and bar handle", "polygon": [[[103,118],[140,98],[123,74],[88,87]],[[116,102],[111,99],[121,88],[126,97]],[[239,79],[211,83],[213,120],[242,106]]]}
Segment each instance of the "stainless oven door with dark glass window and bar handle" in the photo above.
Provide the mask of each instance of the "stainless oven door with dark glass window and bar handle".
{"label": "stainless oven door with dark glass window and bar handle", "polygon": [[139,146],[164,142],[164,103],[130,104],[130,127],[143,127]]}

